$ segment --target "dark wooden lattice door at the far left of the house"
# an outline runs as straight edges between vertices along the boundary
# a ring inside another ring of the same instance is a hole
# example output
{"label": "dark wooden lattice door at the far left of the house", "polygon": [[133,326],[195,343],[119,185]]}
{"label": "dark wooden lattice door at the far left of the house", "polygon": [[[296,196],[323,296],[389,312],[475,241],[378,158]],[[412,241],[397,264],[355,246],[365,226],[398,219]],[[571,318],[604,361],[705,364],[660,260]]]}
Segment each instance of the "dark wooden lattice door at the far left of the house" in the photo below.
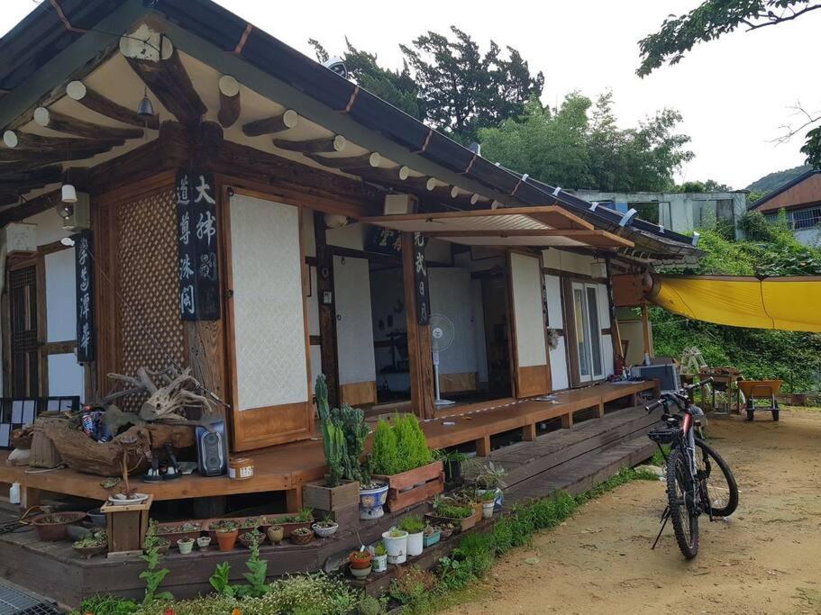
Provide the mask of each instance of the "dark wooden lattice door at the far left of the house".
{"label": "dark wooden lattice door at the far left of the house", "polygon": [[9,272],[9,316],[11,320],[10,393],[12,397],[40,394],[40,323],[37,306],[37,267]]}

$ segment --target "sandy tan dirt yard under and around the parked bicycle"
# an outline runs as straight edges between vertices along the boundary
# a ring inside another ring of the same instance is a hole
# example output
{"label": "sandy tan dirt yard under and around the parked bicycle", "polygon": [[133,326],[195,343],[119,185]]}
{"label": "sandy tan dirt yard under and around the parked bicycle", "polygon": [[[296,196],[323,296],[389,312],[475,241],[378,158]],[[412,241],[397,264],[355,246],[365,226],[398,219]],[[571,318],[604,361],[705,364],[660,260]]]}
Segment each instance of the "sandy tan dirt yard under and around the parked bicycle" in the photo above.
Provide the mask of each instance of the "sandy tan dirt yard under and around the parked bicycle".
{"label": "sandy tan dirt yard under and around the parked bicycle", "polygon": [[499,559],[450,613],[821,613],[821,412],[710,421],[739,485],[738,510],[701,517],[687,561],[668,524],[650,550],[663,484],[635,481],[589,502],[532,548]]}

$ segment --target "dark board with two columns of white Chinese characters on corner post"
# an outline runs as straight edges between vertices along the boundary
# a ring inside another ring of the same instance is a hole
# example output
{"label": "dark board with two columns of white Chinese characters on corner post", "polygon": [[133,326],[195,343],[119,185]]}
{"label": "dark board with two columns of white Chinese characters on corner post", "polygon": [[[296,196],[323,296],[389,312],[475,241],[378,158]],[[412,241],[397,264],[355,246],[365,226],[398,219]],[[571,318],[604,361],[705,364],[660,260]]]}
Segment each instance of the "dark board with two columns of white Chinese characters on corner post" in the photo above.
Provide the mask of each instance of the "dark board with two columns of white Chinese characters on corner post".
{"label": "dark board with two columns of white Chinese characters on corner post", "polygon": [[178,171],[179,316],[184,321],[216,321],[220,317],[216,243],[214,176]]}

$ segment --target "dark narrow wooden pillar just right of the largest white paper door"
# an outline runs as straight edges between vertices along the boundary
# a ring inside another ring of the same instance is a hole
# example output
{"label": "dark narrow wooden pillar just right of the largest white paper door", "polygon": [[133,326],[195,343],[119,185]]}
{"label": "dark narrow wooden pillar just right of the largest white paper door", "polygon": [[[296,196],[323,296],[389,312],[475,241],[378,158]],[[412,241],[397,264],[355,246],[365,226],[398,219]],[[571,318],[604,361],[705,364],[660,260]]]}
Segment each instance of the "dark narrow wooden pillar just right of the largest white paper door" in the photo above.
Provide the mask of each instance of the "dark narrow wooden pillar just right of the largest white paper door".
{"label": "dark narrow wooden pillar just right of the largest white paper door", "polygon": [[[339,405],[339,356],[336,348],[336,296],[333,294],[333,254],[325,240],[325,214],[314,213],[316,244],[316,300],[319,302],[319,345],[322,373],[328,384],[328,403]],[[330,297],[330,302],[326,302]]]}

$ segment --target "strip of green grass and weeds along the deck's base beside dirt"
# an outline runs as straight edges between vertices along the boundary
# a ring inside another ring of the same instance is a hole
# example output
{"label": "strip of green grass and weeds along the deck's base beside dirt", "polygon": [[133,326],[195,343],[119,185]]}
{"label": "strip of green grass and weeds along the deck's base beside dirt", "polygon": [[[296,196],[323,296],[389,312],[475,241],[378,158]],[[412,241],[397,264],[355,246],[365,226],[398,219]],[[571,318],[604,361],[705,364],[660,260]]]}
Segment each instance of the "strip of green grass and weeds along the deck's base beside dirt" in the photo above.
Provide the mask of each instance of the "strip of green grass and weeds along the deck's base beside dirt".
{"label": "strip of green grass and weeds along the deck's base beside dirt", "polygon": [[540,529],[551,529],[567,520],[587,502],[616,487],[635,480],[658,481],[647,471],[625,467],[585,493],[554,493],[534,502],[515,505],[500,517],[493,529],[461,538],[451,555],[442,557],[433,574],[416,571],[404,574],[391,586],[391,597],[405,606],[406,613],[430,613],[462,602],[475,601],[482,594],[479,581],[498,556],[515,547],[530,545]]}

